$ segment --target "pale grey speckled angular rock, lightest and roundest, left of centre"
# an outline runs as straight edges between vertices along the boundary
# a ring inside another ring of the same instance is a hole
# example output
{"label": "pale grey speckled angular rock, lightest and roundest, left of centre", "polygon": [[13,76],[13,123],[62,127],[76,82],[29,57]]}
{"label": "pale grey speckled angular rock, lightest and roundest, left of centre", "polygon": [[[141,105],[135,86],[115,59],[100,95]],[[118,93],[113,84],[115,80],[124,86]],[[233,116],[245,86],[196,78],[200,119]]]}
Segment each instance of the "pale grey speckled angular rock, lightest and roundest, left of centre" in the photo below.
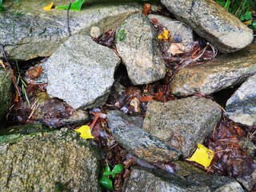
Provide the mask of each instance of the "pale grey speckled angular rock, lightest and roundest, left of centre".
{"label": "pale grey speckled angular rock, lightest and roundest, left of centre", "polygon": [[114,83],[120,58],[89,36],[73,35],[46,62],[51,97],[63,99],[74,109],[101,106]]}

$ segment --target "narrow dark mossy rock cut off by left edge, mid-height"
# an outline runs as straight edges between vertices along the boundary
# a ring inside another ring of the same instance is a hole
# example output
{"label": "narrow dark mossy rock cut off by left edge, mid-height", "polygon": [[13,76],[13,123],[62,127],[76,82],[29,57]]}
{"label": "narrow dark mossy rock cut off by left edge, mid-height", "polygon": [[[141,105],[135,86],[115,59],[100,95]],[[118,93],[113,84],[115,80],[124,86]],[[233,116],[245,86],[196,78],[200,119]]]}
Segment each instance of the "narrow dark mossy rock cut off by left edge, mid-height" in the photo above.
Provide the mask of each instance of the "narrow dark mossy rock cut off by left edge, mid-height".
{"label": "narrow dark mossy rock cut off by left edge, mid-height", "polygon": [[10,71],[8,69],[0,69],[0,120],[9,110],[12,99],[12,88]]}

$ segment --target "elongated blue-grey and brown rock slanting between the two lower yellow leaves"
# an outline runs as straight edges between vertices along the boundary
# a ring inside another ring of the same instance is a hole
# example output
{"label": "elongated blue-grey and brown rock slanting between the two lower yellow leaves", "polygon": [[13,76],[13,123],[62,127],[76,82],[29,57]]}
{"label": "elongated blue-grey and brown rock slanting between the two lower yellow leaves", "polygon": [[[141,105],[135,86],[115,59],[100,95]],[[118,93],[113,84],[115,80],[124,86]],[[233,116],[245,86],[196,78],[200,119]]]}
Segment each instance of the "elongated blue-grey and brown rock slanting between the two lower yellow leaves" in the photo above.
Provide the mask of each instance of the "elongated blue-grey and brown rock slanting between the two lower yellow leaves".
{"label": "elongated blue-grey and brown rock slanting between the two lower yellow leaves", "polygon": [[114,139],[129,153],[146,162],[170,162],[178,159],[180,152],[159,141],[139,128],[137,122],[122,111],[107,113],[108,125]]}

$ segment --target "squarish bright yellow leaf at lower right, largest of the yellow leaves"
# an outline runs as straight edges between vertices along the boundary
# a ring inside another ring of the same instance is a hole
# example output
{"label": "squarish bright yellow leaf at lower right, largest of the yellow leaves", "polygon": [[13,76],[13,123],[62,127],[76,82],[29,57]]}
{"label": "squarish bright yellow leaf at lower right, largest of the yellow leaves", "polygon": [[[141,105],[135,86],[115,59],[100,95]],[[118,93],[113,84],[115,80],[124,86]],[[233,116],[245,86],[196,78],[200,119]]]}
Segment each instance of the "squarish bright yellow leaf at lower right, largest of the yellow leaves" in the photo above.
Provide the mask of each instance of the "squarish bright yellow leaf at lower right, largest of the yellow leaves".
{"label": "squarish bright yellow leaf at lower right, largest of the yellow leaves", "polygon": [[214,158],[214,151],[207,149],[202,144],[198,144],[198,149],[194,152],[191,158],[186,158],[188,161],[197,162],[207,168],[210,166],[211,160]]}

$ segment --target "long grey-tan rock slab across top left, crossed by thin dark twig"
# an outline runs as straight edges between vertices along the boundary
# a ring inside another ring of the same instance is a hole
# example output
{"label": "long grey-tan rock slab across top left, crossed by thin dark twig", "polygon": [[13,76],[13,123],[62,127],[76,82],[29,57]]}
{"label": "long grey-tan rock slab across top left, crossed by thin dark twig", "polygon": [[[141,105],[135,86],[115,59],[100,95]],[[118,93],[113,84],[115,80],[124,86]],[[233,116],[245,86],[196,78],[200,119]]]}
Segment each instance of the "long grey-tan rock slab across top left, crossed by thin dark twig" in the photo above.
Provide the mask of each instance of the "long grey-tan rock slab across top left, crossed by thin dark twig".
{"label": "long grey-tan rock slab across top left, crossed by thin dark twig", "polygon": [[[69,3],[67,0],[57,0],[54,6]],[[37,0],[5,2],[4,6],[8,9],[0,12],[0,42],[6,45],[9,58],[28,60],[50,56],[68,38],[66,10],[45,11],[42,8],[46,5]],[[141,10],[142,6],[136,3],[84,5],[80,11],[70,11],[70,31],[71,34],[90,35],[91,26],[98,26],[104,33],[118,27],[130,14]],[[14,15],[14,11],[26,14]]]}

